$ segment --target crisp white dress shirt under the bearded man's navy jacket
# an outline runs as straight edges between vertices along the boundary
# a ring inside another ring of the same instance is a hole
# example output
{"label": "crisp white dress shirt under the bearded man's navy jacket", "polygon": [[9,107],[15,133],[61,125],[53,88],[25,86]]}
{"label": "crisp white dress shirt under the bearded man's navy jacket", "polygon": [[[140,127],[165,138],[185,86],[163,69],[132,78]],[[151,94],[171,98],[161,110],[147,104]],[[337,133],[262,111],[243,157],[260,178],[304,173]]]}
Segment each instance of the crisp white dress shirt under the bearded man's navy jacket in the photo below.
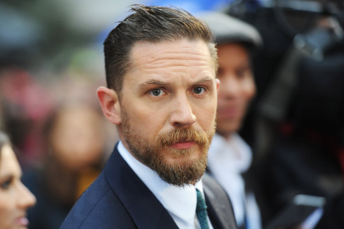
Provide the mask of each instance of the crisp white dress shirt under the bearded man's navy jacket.
{"label": "crisp white dress shirt under the bearded man's navy jacket", "polygon": [[[204,197],[202,181],[195,185],[186,185],[183,188],[176,187],[164,182],[155,171],[139,162],[121,141],[118,143],[118,152],[170,213],[180,229],[200,229],[196,216],[196,188]],[[209,229],[213,229],[209,217],[208,224]]]}

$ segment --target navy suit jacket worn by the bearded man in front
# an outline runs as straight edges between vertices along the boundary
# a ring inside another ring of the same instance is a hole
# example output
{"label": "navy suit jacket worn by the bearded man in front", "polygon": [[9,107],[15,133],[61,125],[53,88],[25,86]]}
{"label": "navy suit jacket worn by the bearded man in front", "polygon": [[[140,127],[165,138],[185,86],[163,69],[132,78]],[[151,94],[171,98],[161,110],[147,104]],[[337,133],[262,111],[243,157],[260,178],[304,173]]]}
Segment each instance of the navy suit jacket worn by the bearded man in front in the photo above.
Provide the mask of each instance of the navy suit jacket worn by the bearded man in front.
{"label": "navy suit jacket worn by the bearded man in front", "polygon": [[[235,229],[228,196],[213,190],[214,180],[203,178],[208,215],[214,229]],[[208,184],[208,185],[207,185]],[[208,187],[209,186],[209,187]],[[223,189],[221,189],[223,190]],[[133,172],[117,151],[103,171],[77,200],[60,229],[178,229],[168,211]]]}

